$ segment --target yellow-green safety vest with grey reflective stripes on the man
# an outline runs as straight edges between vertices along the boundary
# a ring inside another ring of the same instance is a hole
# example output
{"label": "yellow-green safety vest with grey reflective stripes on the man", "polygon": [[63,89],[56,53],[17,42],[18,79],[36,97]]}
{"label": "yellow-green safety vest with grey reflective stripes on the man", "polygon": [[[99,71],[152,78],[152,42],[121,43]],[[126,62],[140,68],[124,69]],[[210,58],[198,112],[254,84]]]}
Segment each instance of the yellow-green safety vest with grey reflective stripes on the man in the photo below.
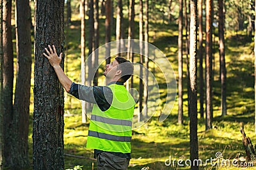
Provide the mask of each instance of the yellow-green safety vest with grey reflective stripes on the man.
{"label": "yellow-green safety vest with grey reflective stripes on the man", "polygon": [[111,84],[108,87],[113,92],[113,101],[106,111],[93,104],[86,147],[131,153],[134,99],[124,85]]}

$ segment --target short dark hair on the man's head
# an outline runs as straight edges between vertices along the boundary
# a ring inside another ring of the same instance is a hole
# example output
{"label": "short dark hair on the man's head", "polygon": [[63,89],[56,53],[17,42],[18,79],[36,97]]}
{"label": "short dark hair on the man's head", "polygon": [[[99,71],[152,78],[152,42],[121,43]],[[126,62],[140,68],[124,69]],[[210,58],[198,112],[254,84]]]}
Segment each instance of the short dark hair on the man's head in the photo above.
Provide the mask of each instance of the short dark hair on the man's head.
{"label": "short dark hair on the man's head", "polygon": [[133,73],[132,63],[129,60],[124,59],[123,57],[116,57],[115,60],[118,62],[117,69],[120,69],[122,71],[120,79],[122,80],[122,82],[127,81]]}

